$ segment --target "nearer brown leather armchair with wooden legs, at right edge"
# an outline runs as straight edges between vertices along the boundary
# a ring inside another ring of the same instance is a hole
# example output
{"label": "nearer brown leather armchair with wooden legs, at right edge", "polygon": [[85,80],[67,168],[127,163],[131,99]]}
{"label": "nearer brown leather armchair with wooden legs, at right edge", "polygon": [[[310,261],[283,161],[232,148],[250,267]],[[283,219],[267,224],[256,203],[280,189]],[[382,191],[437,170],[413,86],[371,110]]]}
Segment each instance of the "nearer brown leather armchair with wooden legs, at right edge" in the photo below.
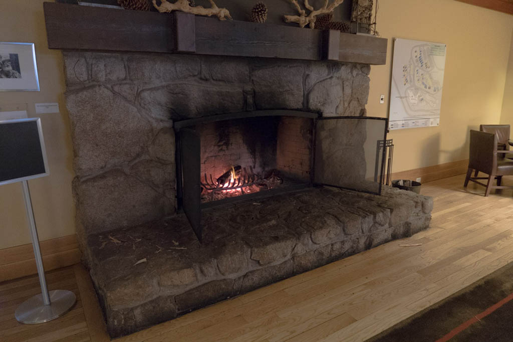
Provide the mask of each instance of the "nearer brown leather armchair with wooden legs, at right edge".
{"label": "nearer brown leather armchair with wooden legs, at right edge", "polygon": [[[485,196],[490,194],[490,189],[513,188],[513,186],[501,186],[502,176],[513,175],[513,160],[504,158],[508,150],[497,149],[497,135],[478,130],[470,130],[470,155],[468,159],[466,187],[468,181],[475,182],[486,187]],[[470,177],[472,170],[482,172],[488,177]],[[497,185],[492,185],[497,178]],[[478,181],[487,179],[486,184]]]}

